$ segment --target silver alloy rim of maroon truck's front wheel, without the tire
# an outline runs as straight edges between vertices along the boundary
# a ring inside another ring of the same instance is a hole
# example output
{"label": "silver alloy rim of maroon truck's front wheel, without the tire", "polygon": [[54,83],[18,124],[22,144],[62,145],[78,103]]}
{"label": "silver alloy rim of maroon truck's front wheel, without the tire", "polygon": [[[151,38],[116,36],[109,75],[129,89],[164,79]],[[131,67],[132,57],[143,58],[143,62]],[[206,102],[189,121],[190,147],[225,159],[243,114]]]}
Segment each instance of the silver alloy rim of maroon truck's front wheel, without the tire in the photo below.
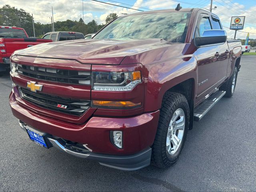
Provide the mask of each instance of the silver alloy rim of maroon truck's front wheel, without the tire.
{"label": "silver alloy rim of maroon truck's front wheel, without the tire", "polygon": [[171,118],[166,137],[166,150],[170,155],[174,154],[180,147],[184,135],[185,121],[184,110],[177,109]]}

